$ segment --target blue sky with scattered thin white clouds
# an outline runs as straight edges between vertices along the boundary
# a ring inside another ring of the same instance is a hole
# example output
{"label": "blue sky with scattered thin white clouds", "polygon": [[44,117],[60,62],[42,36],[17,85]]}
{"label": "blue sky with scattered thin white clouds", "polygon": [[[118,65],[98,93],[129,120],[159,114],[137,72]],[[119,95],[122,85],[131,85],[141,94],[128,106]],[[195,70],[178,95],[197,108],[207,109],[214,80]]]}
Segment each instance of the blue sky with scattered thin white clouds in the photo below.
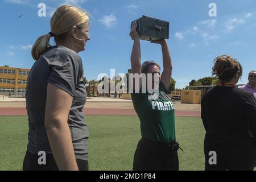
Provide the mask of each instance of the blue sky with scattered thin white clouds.
{"label": "blue sky with scattered thin white clouds", "polygon": [[[46,17],[38,16],[40,2],[46,4]],[[211,2],[217,5],[217,17],[208,14]],[[91,15],[91,40],[80,53],[88,80],[100,73],[110,76],[111,68],[116,74],[127,72],[133,46],[130,22],[142,15],[170,22],[168,44],[176,88],[211,76],[213,59],[218,55],[229,54],[240,61],[244,72],[239,84],[246,84],[247,73],[256,69],[255,0],[3,0],[0,65],[31,68],[32,44],[50,31],[51,14],[64,3],[80,6]],[[162,65],[159,45],[142,41],[141,46],[142,61],[155,60]]]}

